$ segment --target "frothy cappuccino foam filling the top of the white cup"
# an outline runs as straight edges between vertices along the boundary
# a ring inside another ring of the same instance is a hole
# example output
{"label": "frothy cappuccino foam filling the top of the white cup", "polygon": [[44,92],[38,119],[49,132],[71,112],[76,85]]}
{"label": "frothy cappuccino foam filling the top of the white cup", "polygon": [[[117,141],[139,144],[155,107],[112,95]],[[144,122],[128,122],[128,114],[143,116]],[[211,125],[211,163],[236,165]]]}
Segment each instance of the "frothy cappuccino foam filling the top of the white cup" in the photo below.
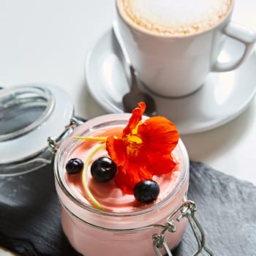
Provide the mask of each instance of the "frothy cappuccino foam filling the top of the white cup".
{"label": "frothy cappuccino foam filling the top of the white cup", "polygon": [[157,34],[197,34],[229,12],[233,0],[117,0],[124,20]]}

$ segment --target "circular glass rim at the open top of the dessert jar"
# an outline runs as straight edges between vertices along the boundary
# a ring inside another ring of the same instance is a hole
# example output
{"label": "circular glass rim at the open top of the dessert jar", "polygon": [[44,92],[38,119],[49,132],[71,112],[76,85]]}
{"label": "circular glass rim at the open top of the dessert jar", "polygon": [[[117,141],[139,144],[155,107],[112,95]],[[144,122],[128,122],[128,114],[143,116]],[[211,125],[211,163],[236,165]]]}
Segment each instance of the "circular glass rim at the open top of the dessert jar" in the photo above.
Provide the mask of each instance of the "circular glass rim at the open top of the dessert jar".
{"label": "circular glass rim at the open top of the dessert jar", "polygon": [[[72,201],[72,203],[75,203],[75,205],[79,206],[80,208],[83,208],[85,210],[91,211],[93,214],[99,214],[109,217],[132,217],[137,216],[140,214],[146,214],[148,212],[154,211],[156,208],[165,205],[169,200],[171,200],[182,188],[185,181],[187,180],[187,176],[189,175],[189,156],[187,153],[187,149],[184,146],[184,143],[179,138],[178,144],[174,151],[178,150],[181,151],[182,156],[184,157],[183,161],[184,166],[182,167],[182,174],[180,176],[180,180],[176,187],[172,189],[169,195],[165,197],[163,200],[154,203],[153,206],[150,206],[148,208],[139,209],[136,211],[129,211],[129,212],[111,212],[111,211],[102,211],[100,209],[94,208],[94,206],[90,206],[88,203],[83,202],[82,200],[79,200],[75,195],[72,195],[72,192],[70,192],[67,184],[64,183],[64,178],[61,176],[61,170],[64,167],[64,162],[61,162],[61,152],[64,151],[68,146],[70,140],[72,140],[73,136],[83,136],[83,132],[87,129],[93,129],[93,127],[99,125],[99,124],[108,124],[111,121],[123,121],[127,124],[127,121],[129,120],[130,113],[113,113],[113,114],[106,114],[102,116],[97,116],[95,118],[91,118],[89,121],[86,121],[86,123],[80,125],[79,127],[76,127],[75,130],[72,132],[71,135],[69,135],[67,138],[64,139],[64,141],[61,143],[61,146],[59,147],[59,150],[56,153],[56,157],[54,159],[54,175],[56,177],[56,183],[61,188],[61,192],[64,192],[64,195],[67,196],[69,200]],[[148,118],[148,116],[143,116],[143,120]],[[61,169],[61,166],[62,169]],[[61,203],[64,204],[64,202],[61,200]],[[70,209],[69,209],[70,210]],[[74,213],[73,213],[74,214]],[[77,215],[77,214],[75,214]]]}

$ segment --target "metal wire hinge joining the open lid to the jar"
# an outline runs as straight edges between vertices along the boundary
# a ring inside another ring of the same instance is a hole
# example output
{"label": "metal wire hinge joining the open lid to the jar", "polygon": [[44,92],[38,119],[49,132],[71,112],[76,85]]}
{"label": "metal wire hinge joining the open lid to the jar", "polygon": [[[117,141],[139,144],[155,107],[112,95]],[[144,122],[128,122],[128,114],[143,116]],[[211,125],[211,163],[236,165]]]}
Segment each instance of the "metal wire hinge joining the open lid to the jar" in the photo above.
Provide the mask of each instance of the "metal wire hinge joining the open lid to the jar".
{"label": "metal wire hinge joining the open lid to the jar", "polygon": [[50,148],[50,151],[55,154],[59,148],[61,141],[64,140],[64,138],[66,138],[69,133],[73,132],[75,127],[78,127],[80,124],[83,124],[83,121],[81,119],[72,117],[70,119],[69,125],[65,127],[64,132],[62,132],[58,138],[55,138],[53,136],[48,137],[48,147]]}

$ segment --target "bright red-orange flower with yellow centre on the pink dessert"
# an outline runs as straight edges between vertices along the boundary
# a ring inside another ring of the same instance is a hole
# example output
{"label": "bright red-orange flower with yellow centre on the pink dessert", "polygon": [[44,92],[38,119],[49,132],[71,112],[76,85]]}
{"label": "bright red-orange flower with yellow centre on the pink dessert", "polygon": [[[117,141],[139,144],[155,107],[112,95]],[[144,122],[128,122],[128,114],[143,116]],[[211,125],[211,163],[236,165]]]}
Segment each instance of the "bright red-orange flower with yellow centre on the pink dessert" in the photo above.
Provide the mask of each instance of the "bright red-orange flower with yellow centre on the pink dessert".
{"label": "bright red-orange flower with yellow centre on the pink dessert", "polygon": [[178,143],[175,125],[163,116],[141,121],[146,110],[139,102],[122,134],[107,138],[106,148],[116,162],[116,186],[132,194],[135,184],[154,175],[169,173],[176,166],[170,154]]}

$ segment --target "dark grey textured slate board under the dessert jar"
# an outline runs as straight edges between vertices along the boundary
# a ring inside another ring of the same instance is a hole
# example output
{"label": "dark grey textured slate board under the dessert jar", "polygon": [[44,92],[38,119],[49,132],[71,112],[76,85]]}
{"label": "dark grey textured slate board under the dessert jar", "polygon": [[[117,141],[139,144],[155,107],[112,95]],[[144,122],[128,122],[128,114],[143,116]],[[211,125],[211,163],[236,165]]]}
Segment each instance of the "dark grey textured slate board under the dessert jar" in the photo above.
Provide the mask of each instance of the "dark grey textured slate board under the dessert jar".
{"label": "dark grey textured slate board under the dessert jar", "polygon": [[[214,255],[256,255],[256,187],[200,162],[190,172],[188,197]],[[59,207],[52,165],[0,178],[0,246],[20,255],[78,255],[62,233]],[[188,227],[173,255],[192,255],[195,247]]]}

